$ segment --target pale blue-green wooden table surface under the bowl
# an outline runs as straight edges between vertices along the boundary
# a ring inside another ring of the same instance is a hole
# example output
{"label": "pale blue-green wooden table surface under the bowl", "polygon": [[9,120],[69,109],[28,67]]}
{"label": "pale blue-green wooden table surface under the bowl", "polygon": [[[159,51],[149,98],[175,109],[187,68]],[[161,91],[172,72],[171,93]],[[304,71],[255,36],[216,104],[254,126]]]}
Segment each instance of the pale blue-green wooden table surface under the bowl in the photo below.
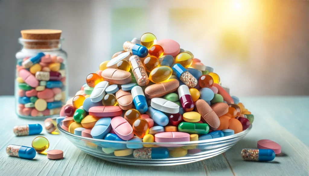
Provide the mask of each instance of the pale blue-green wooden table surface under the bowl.
{"label": "pale blue-green wooden table surface under the bowl", "polygon": [[[6,154],[9,144],[31,146],[36,136],[15,137],[13,126],[40,123],[19,119],[15,115],[14,97],[0,97],[0,175],[309,175],[309,97],[243,97],[241,102],[251,111],[253,128],[241,141],[223,154],[177,166],[127,166],[92,157],[77,149],[63,135],[52,135],[43,129],[49,149],[64,151],[62,160],[49,160],[37,154],[26,160]],[[256,148],[260,139],[270,139],[282,147],[280,156],[271,162],[248,162],[240,157],[243,148]]]}

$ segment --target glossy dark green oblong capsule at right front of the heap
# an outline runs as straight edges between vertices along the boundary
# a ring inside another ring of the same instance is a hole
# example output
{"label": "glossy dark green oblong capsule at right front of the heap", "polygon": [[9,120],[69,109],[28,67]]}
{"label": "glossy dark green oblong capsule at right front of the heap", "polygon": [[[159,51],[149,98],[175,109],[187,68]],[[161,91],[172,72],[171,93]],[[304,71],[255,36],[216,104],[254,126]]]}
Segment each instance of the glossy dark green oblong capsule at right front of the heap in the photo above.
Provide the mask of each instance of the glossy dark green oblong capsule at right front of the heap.
{"label": "glossy dark green oblong capsule at right front of the heap", "polygon": [[190,134],[207,134],[209,126],[205,123],[181,122],[178,125],[178,131]]}

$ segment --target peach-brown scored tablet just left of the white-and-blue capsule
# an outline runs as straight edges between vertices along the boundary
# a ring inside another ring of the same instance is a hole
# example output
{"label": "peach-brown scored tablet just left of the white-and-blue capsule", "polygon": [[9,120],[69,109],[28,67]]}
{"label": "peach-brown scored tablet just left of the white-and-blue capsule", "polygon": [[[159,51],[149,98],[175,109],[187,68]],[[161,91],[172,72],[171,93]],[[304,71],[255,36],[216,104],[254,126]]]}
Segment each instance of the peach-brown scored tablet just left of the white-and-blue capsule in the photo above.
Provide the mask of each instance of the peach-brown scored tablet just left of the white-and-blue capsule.
{"label": "peach-brown scored tablet just left of the white-and-blue capsule", "polygon": [[130,92],[120,89],[116,92],[116,98],[121,109],[128,110],[133,107],[133,98]]}

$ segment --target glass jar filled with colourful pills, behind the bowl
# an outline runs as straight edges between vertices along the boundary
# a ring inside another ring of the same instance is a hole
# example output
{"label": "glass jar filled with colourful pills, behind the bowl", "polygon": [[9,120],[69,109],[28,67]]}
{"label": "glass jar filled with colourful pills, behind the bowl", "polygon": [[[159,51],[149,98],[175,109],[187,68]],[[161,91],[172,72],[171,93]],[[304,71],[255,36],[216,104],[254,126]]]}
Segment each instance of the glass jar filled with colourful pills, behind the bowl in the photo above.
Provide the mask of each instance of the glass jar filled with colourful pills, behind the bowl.
{"label": "glass jar filled with colourful pills, behind the bowl", "polygon": [[62,42],[60,36],[59,39],[19,38],[22,49],[16,53],[15,79],[18,117],[59,117],[68,94],[67,53],[61,48]]}

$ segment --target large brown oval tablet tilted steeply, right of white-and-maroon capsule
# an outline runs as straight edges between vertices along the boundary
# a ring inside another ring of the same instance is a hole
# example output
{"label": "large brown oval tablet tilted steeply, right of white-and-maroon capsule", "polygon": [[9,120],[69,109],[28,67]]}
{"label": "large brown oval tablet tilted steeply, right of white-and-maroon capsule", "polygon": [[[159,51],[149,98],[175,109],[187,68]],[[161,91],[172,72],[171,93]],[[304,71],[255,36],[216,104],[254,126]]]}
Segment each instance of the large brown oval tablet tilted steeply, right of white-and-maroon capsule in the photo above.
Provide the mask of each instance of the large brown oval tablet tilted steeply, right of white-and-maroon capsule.
{"label": "large brown oval tablet tilted steeply, right of white-and-maroon capsule", "polygon": [[205,100],[195,102],[195,111],[201,114],[201,121],[207,123],[211,130],[214,131],[220,126],[219,117]]}

